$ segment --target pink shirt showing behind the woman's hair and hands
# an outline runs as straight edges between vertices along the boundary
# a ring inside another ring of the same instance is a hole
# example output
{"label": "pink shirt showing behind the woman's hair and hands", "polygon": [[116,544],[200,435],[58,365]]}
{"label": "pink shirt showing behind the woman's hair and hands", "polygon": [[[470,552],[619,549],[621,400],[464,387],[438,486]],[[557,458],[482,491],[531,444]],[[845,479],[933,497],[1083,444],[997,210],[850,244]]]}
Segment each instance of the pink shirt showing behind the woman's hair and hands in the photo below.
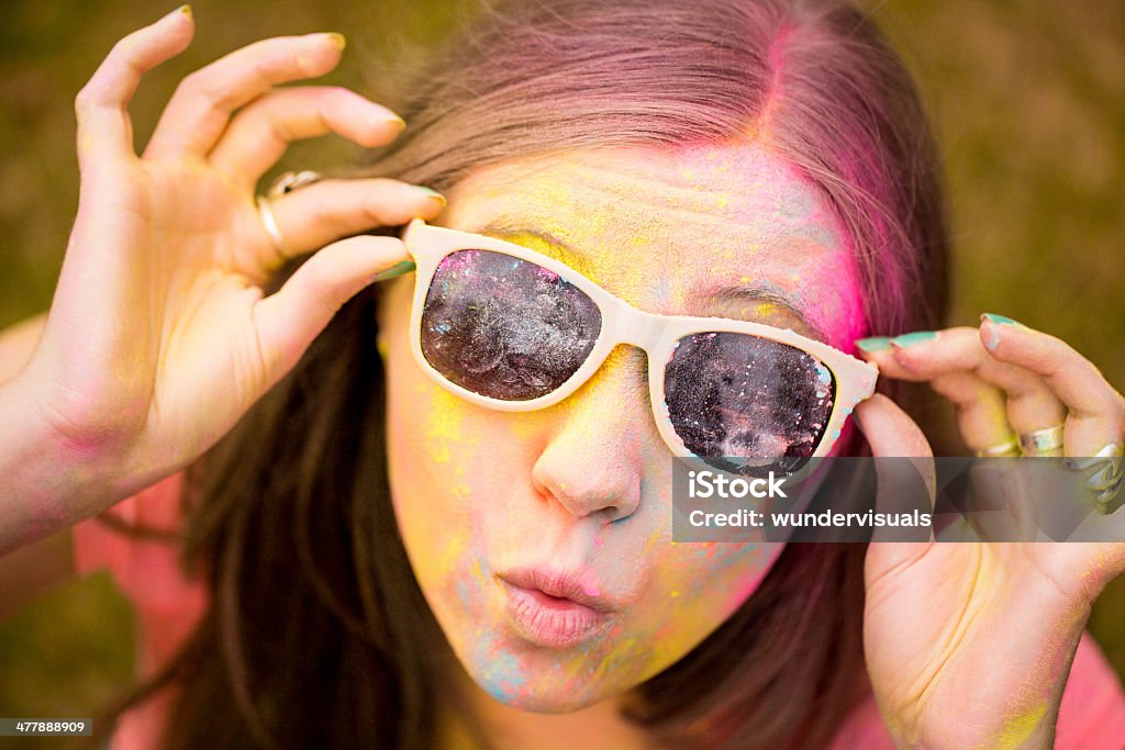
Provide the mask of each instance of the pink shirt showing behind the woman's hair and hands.
{"label": "pink shirt showing behind the woman's hair and hands", "polygon": [[[128,524],[174,530],[182,521],[178,501],[181,482],[181,475],[169,477],[114,506],[112,513]],[[176,548],[169,543],[133,540],[96,521],[84,521],[74,527],[74,560],[80,575],[108,568],[133,603],[140,677],[147,677],[171,657],[206,611],[205,587],[184,580]],[[155,748],[173,697],[169,692],[158,694],[124,714],[114,734],[114,750]],[[1088,633],[1082,634],[1074,656],[1055,738],[1056,748],[1125,748],[1125,690]],[[874,698],[860,706],[830,746],[830,750],[853,748],[893,748]]]}

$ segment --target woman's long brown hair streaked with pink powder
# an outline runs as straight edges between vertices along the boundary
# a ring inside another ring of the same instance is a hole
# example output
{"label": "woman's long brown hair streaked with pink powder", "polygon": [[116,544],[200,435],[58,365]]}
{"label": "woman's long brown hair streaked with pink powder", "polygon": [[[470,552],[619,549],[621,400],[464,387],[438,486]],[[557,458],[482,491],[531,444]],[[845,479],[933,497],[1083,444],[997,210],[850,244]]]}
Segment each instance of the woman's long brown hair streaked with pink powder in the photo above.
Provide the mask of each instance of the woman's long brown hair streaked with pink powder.
{"label": "woman's long brown hair streaked with pink powder", "polygon": [[[901,62],[850,6],[524,2],[485,11],[398,93],[380,99],[410,127],[362,171],[439,190],[513,157],[756,138],[835,213],[871,331],[944,318],[929,128]],[[436,702],[457,699],[389,501],[376,293],[345,305],[191,473],[183,560],[213,605],[109,714],[173,685],[168,748],[429,748]],[[864,550],[788,545],[628,715],[666,747],[825,746],[864,689]]]}

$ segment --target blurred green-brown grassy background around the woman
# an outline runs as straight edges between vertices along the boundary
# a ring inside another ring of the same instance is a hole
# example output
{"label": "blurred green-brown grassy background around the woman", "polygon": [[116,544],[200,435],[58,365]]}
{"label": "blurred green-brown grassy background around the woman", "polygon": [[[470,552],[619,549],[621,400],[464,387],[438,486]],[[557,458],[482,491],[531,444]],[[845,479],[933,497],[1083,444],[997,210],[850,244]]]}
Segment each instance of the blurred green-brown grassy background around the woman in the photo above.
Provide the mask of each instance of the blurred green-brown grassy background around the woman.
{"label": "blurred green-brown grassy background around the woman", "polygon": [[[952,322],[1011,316],[1070,342],[1125,388],[1125,3],[863,4],[915,71],[946,161]],[[180,78],[254,39],[343,31],[349,49],[327,78],[362,85],[447,33],[465,7],[200,0],[195,43],[146,78],[133,106],[136,142]],[[0,328],[51,301],[78,200],[75,92],[114,40],[170,9],[0,3]],[[300,144],[279,170],[356,153],[334,139]],[[950,424],[947,410],[939,416]],[[1098,602],[1090,629],[1125,675],[1125,578]],[[0,622],[0,716],[91,715],[129,679],[133,649],[132,613],[106,573],[40,596]]]}

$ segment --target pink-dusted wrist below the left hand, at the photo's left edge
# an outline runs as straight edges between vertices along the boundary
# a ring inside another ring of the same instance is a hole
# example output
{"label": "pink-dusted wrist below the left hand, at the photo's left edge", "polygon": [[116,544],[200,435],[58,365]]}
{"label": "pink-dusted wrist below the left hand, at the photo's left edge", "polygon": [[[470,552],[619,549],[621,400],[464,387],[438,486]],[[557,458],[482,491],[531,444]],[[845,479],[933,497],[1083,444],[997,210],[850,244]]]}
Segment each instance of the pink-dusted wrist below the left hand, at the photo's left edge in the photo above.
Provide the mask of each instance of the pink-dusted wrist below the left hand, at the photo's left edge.
{"label": "pink-dusted wrist below the left hand, at the photo's left edge", "polygon": [[88,518],[123,497],[108,457],[52,428],[26,374],[0,383],[0,555]]}

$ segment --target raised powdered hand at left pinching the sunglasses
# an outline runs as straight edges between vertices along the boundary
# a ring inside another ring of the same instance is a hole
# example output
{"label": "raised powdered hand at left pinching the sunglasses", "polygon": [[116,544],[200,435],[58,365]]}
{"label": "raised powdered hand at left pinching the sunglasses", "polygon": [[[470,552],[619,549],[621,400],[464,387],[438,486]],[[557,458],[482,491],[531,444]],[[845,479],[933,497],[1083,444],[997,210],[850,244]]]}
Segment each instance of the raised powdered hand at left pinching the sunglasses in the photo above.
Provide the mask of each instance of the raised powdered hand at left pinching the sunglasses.
{"label": "raised powdered hand at left pinching the sunglasses", "polygon": [[[374,274],[408,260],[397,238],[334,241],[443,202],[394,180],[325,180],[273,200],[285,247],[271,240],[255,184],[290,141],[331,130],[374,147],[403,127],[344,89],[272,88],[335,67],[335,34],[258,42],[187,76],[138,157],[128,101],[192,33],[189,9],[172,11],[122,39],[79,93],[78,216],[17,378],[56,442],[111,467],[118,497],[201,455]],[[288,257],[326,244],[264,297]]]}

